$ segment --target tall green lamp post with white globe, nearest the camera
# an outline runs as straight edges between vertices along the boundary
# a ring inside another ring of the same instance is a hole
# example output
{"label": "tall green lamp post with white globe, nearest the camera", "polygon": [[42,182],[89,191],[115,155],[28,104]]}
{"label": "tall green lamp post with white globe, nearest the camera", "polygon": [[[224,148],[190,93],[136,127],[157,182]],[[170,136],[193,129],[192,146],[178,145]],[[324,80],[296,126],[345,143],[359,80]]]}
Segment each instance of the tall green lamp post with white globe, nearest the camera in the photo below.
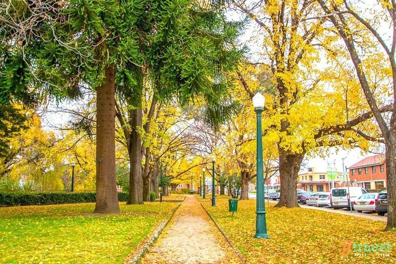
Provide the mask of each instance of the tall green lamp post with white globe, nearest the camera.
{"label": "tall green lamp post with white globe, nearest the camera", "polygon": [[269,238],[265,219],[264,177],[263,177],[263,144],[261,132],[261,113],[264,110],[264,97],[257,93],[253,97],[253,107],[257,114],[257,198],[256,198],[256,233],[254,238]]}

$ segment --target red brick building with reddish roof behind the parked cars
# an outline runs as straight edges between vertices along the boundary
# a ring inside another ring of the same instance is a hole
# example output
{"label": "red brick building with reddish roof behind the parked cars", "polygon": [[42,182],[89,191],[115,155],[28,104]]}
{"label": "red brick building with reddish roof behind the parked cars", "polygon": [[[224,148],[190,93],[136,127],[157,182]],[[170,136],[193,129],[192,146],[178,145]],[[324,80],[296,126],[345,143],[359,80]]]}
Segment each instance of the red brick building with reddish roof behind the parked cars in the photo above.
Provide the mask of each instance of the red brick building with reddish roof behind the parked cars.
{"label": "red brick building with reddish roof behind the parked cars", "polygon": [[367,191],[387,187],[385,154],[363,158],[348,169],[353,186],[362,187]]}

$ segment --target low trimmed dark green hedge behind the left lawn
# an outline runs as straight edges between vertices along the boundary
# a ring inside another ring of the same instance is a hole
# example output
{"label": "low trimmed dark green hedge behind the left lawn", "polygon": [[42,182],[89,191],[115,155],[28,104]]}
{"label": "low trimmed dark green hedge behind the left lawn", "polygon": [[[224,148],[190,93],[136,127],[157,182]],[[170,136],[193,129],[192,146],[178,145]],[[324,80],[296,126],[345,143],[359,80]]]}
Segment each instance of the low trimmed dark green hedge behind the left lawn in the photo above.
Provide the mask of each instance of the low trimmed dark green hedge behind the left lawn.
{"label": "low trimmed dark green hedge behind the left lawn", "polygon": [[[96,193],[0,193],[0,206],[38,206],[95,203]],[[119,192],[118,201],[126,202],[128,193]]]}

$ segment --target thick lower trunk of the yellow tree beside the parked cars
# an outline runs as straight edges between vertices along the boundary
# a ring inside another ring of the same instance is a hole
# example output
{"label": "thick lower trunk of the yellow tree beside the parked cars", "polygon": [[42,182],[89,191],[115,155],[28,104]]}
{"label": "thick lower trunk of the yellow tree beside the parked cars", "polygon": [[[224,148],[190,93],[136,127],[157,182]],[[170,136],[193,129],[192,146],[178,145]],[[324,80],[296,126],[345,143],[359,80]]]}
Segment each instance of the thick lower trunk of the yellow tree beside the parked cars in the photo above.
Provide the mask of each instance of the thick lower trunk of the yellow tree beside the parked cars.
{"label": "thick lower trunk of the yellow tree beside the parked cars", "polygon": [[288,154],[279,148],[279,174],[281,178],[281,194],[275,207],[299,207],[297,203],[297,177],[304,153]]}

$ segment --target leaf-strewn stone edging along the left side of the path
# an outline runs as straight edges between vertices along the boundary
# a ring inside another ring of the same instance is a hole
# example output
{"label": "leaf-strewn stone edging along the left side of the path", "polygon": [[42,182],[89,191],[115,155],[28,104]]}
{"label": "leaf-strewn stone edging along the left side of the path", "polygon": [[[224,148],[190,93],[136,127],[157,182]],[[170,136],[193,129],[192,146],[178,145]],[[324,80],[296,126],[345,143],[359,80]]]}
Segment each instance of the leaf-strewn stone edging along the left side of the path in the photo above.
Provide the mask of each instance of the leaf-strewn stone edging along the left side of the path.
{"label": "leaf-strewn stone edging along the left side of the path", "polygon": [[[184,201],[184,200],[183,200]],[[149,247],[154,244],[154,242],[158,239],[159,235],[162,233],[164,230],[165,226],[169,223],[170,219],[172,219],[173,215],[175,214],[176,210],[179,209],[180,205],[177,205],[173,210],[171,215],[165,219],[162,220],[153,231],[151,231],[150,234],[146,238],[142,240],[140,245],[138,245],[135,249],[135,251],[130,254],[125,261],[123,261],[124,264],[140,264],[143,256],[148,252]]]}

